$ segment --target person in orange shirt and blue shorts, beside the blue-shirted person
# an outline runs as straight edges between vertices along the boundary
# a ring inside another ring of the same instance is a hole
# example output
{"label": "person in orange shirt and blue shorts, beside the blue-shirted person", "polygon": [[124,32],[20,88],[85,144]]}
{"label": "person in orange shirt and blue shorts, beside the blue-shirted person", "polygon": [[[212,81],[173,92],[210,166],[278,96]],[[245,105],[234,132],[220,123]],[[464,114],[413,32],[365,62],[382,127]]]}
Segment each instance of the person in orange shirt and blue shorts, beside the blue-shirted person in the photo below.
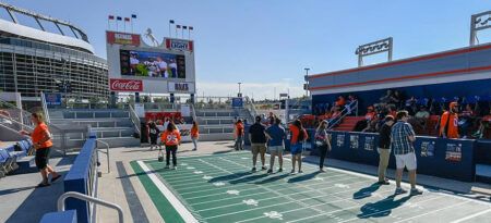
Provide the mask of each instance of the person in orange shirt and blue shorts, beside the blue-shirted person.
{"label": "person in orange shirt and blue shorts, beside the blue-shirted person", "polygon": [[290,138],[290,152],[291,152],[291,174],[295,174],[295,163],[298,161],[298,173],[302,172],[302,151],[303,144],[308,139],[306,128],[303,128],[300,120],[295,120],[289,126],[291,138]]}

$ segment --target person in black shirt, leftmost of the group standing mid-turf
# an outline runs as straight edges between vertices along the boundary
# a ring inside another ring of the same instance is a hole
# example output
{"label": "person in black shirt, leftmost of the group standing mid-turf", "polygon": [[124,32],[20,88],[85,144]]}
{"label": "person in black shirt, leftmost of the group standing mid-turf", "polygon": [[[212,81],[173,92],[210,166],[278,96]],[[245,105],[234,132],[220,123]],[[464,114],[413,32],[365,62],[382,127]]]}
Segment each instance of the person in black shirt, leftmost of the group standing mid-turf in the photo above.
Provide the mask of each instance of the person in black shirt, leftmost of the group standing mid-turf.
{"label": "person in black shirt, leftmost of the group standing mid-turf", "polygon": [[255,172],[255,163],[258,161],[258,153],[261,153],[261,170],[265,171],[266,165],[266,127],[261,124],[261,116],[255,116],[255,123],[251,125],[249,128],[249,140],[251,141],[251,151],[252,151],[252,172]]}

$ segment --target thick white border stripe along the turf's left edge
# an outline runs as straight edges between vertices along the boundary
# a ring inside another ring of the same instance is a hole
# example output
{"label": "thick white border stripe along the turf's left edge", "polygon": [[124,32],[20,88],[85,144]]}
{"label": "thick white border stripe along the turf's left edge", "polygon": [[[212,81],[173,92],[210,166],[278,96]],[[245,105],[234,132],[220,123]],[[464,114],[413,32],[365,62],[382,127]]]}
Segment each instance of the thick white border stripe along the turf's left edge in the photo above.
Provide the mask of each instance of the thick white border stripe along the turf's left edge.
{"label": "thick white border stripe along the turf's left edge", "polygon": [[142,168],[146,175],[152,179],[152,182],[157,186],[160,193],[169,200],[173,209],[181,215],[185,222],[197,223],[197,220],[193,214],[181,203],[181,201],[169,190],[169,188],[164,185],[164,183],[157,177],[157,175],[148,169],[142,161],[137,161],[139,165]]}

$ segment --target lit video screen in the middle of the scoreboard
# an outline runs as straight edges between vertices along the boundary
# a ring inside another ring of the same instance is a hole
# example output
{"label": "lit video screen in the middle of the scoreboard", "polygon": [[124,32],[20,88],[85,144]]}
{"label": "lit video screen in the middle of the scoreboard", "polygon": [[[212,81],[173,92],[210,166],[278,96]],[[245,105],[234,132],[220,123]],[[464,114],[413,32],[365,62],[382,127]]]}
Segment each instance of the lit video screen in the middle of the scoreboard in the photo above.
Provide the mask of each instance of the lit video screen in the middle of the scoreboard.
{"label": "lit video screen in the middle of the scoreboard", "polygon": [[185,58],[181,54],[120,50],[122,76],[185,78]]}

